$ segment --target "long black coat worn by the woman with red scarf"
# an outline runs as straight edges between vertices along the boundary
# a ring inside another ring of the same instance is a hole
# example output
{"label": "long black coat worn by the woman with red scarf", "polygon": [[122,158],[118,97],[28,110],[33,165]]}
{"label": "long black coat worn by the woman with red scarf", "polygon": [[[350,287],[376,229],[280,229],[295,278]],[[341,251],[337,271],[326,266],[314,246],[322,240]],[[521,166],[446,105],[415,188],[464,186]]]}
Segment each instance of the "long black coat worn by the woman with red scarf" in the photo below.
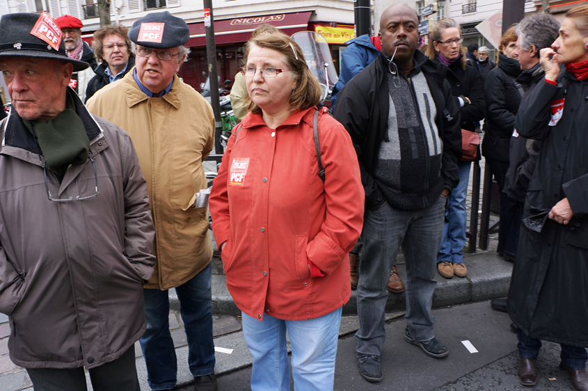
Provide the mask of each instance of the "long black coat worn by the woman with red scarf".
{"label": "long black coat worn by the woman with red scarf", "polygon": [[[516,117],[518,133],[543,140],[523,219],[564,198],[574,215],[568,225],[547,219],[540,233],[523,224],[508,310],[532,338],[588,347],[588,81],[566,71],[557,81],[540,81]],[[562,117],[549,126],[558,99]]]}

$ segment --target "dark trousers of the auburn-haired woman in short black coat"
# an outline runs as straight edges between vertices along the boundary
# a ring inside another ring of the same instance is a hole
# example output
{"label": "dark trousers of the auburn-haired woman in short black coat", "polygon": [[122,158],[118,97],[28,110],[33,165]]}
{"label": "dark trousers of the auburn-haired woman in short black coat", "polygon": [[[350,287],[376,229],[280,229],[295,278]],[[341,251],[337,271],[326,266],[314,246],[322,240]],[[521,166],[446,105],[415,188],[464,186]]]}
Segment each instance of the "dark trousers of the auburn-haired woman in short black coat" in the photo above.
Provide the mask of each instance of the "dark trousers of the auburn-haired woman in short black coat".
{"label": "dark trousers of the auburn-haired woman in short black coat", "polygon": [[498,249],[496,251],[514,257],[518,247],[518,235],[521,232],[524,204],[511,199],[506,193],[502,192],[509,163],[488,158],[486,158],[486,163],[490,165],[500,190],[500,226],[498,227]]}

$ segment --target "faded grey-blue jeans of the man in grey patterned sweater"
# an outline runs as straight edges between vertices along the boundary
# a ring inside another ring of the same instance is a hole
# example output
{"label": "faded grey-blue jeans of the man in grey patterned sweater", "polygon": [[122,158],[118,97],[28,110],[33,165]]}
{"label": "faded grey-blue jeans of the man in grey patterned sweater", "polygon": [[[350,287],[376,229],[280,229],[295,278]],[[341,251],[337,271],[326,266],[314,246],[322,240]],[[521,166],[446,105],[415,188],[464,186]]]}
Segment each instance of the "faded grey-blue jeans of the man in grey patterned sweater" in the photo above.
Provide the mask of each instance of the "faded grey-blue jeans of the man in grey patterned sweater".
{"label": "faded grey-blue jeans of the man in grey patterned sweater", "polygon": [[395,209],[388,203],[377,210],[365,210],[357,287],[358,357],[379,356],[386,340],[386,285],[401,244],[406,260],[404,319],[415,340],[434,337],[431,304],[446,199],[440,196],[433,205],[419,210]]}

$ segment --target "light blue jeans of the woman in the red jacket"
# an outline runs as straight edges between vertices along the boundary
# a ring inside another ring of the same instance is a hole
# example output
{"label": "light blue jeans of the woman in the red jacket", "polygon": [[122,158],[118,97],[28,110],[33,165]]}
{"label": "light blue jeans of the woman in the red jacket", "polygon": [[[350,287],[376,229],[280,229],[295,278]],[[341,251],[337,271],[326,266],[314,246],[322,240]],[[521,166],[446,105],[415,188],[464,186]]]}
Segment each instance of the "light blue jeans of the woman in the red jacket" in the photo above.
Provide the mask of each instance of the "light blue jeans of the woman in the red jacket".
{"label": "light blue jeans of the woman in the red jacket", "polygon": [[286,331],[292,347],[294,390],[333,390],[341,310],[315,319],[263,322],[242,313],[243,335],[253,355],[251,390],[290,390]]}

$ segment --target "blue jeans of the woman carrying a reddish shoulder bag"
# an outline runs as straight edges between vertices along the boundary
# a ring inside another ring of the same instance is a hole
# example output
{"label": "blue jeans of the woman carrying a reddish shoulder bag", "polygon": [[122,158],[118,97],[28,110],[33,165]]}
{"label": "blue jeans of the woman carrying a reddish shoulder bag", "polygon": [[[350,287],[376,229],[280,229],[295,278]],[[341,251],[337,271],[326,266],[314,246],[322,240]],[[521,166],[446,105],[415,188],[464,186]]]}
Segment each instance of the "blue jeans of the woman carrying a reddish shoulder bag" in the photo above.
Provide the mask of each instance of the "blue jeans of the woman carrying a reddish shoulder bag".
{"label": "blue jeans of the woman carrying a reddish shoulder bag", "polygon": [[471,162],[459,162],[459,183],[447,197],[446,222],[443,224],[443,236],[437,255],[437,263],[449,261],[463,263],[463,246],[466,245],[466,196],[470,181]]}

